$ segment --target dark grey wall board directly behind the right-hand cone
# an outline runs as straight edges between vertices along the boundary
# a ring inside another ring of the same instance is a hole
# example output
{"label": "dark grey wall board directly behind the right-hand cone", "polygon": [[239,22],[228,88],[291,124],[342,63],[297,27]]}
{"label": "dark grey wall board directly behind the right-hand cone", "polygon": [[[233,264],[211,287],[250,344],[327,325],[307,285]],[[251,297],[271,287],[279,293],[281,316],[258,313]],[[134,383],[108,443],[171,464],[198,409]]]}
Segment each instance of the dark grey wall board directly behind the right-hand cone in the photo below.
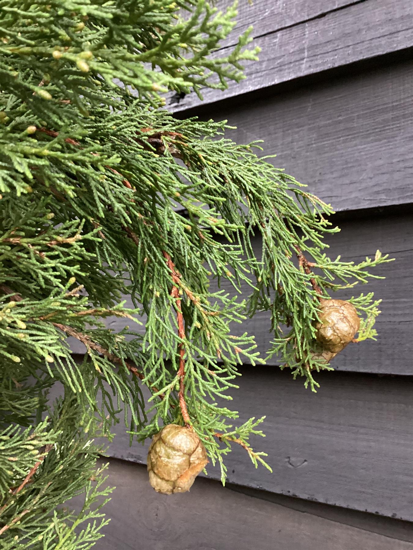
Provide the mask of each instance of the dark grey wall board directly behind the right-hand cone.
{"label": "dark grey wall board directly behind the right-hand cone", "polygon": [[[358,284],[354,289],[337,293],[339,298],[349,298],[361,292],[373,291],[383,299],[382,313],[378,317],[377,342],[367,340],[360,344],[351,344],[335,357],[332,365],[336,370],[379,372],[400,375],[412,375],[413,344],[413,279],[410,274],[411,255],[413,251],[413,225],[408,215],[394,215],[388,217],[373,217],[356,219],[355,221],[341,221],[341,232],[329,235],[326,239],[330,244],[328,254],[336,257],[341,254],[343,260],[361,262],[366,256],[373,257],[377,249],[389,253],[395,261],[379,266],[372,273],[385,276],[386,279],[372,279],[368,285]],[[260,240],[254,241],[254,250],[260,257]],[[211,287],[212,288],[212,287]],[[225,280],[222,288],[235,294],[232,287]],[[242,285],[243,292],[251,292],[247,285]],[[132,306],[131,300],[128,304]],[[130,321],[114,317],[107,320],[108,326],[119,330]],[[249,332],[256,336],[258,349],[265,357],[270,348],[271,333],[269,332],[270,316],[268,312],[261,312],[242,324],[233,323],[233,334],[239,335]],[[138,327],[144,330],[144,327]],[[72,339],[72,350],[75,353],[84,353],[85,348],[78,340]],[[276,357],[269,360],[269,365],[279,364]]]}

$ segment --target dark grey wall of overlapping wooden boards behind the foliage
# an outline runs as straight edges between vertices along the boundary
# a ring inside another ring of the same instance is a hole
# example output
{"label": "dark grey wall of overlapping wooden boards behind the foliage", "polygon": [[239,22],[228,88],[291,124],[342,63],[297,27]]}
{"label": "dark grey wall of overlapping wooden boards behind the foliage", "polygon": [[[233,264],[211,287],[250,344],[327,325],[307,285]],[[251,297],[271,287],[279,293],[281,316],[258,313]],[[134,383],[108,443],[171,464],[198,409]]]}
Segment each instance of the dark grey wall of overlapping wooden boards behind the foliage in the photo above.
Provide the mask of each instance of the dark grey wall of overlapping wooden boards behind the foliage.
{"label": "dark grey wall of overlapping wooden boards behind the foliage", "polygon": [[[264,139],[263,154],[278,153],[277,166],[338,212],[332,255],[359,260],[379,248],[396,259],[382,268],[385,281],[366,287],[383,298],[379,340],[349,346],[336,372],[318,376],[317,395],[275,361],[243,367],[234,406],[241,419],[267,415],[267,438],[253,443],[272,475],[235,449],[230,487],[208,467],[212,479],[189,495],[163,497],[146,482],[146,447],[129,447],[119,426],[109,450],[113,521],[99,548],[413,550],[413,4],[240,4],[233,36],[253,24],[260,61],[241,84],[205,90],[203,104],[171,95],[169,108],[228,119],[236,141]],[[242,331],[265,349],[268,326],[263,314]]]}

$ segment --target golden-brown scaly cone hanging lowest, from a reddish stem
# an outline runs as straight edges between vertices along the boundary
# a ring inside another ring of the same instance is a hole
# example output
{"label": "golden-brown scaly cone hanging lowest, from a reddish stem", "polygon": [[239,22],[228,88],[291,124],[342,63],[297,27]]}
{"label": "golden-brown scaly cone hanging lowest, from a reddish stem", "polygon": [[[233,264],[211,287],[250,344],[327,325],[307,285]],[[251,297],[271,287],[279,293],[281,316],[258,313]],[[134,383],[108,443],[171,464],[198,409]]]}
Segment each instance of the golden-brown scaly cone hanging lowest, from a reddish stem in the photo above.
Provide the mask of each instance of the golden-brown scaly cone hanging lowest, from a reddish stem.
{"label": "golden-brown scaly cone hanging lowest, from a reddish stem", "polygon": [[184,493],[207,463],[205,447],[197,434],[169,424],[155,434],[149,447],[149,482],[158,493]]}

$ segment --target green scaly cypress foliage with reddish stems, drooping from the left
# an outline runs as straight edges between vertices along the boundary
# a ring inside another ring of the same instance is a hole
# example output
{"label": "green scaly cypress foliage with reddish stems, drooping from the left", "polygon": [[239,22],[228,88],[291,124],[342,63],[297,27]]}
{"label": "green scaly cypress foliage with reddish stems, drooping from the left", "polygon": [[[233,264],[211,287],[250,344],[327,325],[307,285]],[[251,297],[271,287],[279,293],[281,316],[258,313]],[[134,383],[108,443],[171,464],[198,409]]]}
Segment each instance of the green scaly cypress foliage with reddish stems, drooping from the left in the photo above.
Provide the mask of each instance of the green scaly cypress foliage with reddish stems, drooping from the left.
{"label": "green scaly cypress foliage with reddish stems, drooping from the left", "polygon": [[[265,360],[234,323],[269,311],[268,355],[315,390],[313,373],[331,368],[317,355],[319,296],[351,293],[388,260],[330,259],[329,205],[259,158],[258,143],[225,137],[225,121],[162,108],[164,92],[201,96],[243,78],[258,54],[251,30],[216,52],[236,5],[0,0],[0,10],[0,540],[84,549],[111,491],[100,436],[111,441],[121,422],[136,445],[186,424],[222,481],[233,444],[266,465],[248,439],[263,419],[240,426],[223,404],[237,365]],[[379,301],[349,301],[358,340],[374,338]],[[131,328],[113,331],[109,317]],[[80,362],[69,336],[85,346]],[[80,513],[66,504],[76,495]]]}

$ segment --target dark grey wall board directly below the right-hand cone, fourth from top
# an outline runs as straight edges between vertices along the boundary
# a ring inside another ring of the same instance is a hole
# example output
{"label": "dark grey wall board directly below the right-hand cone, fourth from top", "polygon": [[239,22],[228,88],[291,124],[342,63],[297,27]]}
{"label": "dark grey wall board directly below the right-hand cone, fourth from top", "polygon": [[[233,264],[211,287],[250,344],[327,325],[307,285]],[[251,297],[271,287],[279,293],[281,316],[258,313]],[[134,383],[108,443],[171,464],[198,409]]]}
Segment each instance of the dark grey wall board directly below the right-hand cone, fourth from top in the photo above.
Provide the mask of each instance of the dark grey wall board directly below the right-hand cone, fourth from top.
{"label": "dark grey wall board directly below the right-hand cone, fourth from top", "polygon": [[[227,457],[229,482],[265,491],[413,520],[411,378],[319,373],[318,394],[275,367],[244,368],[232,392],[238,423],[267,415],[265,439],[273,474],[254,469],[237,445]],[[129,447],[119,425],[109,454],[146,463],[149,442]],[[207,467],[219,478],[218,467]],[[327,550],[327,549],[326,549]]]}

